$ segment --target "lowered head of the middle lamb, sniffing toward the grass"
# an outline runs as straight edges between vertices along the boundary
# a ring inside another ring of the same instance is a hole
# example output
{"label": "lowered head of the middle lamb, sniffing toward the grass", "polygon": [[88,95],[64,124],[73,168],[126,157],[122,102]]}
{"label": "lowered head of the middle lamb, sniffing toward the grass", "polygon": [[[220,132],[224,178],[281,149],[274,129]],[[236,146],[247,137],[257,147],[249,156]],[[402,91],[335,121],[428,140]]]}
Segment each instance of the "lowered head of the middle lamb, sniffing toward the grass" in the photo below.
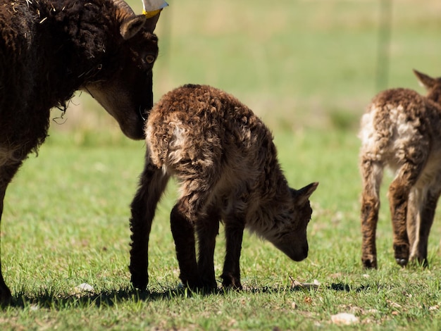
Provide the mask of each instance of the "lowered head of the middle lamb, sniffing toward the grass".
{"label": "lowered head of the middle lamb, sniffing toward the grass", "polygon": [[290,189],[291,207],[276,218],[271,235],[265,235],[266,239],[294,261],[308,257],[306,227],[312,214],[309,196],[317,186],[318,182],[313,182],[299,190]]}

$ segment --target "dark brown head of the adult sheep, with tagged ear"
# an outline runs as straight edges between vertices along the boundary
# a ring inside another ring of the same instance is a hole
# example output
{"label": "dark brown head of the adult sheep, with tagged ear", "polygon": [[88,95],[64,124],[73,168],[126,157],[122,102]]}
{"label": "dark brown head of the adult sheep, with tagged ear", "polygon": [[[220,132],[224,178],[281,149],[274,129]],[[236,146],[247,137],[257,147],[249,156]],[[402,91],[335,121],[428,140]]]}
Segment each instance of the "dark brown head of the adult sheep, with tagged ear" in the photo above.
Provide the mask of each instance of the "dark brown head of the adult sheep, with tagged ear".
{"label": "dark brown head of the adult sheep, with tagged ear", "polygon": [[[82,87],[118,121],[132,139],[144,138],[144,116],[153,106],[153,65],[158,56],[154,35],[159,12],[153,17],[135,15],[123,0],[116,6],[116,30],[105,50],[97,75]],[[112,32],[113,31],[113,32]]]}

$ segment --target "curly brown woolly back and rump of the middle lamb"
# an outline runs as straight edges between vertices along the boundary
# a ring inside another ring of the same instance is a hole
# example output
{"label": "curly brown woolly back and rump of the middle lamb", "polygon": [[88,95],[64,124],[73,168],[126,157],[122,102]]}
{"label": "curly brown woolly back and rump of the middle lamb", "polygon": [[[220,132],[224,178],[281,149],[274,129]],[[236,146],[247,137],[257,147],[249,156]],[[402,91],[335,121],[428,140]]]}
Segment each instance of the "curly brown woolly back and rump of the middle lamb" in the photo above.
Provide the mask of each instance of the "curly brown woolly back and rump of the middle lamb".
{"label": "curly brown woolly back and rump of the middle lamb", "polygon": [[[234,96],[206,85],[184,85],[164,95],[147,122],[152,160],[221,163],[225,154],[247,155],[261,120]],[[238,161],[238,160],[236,160]]]}

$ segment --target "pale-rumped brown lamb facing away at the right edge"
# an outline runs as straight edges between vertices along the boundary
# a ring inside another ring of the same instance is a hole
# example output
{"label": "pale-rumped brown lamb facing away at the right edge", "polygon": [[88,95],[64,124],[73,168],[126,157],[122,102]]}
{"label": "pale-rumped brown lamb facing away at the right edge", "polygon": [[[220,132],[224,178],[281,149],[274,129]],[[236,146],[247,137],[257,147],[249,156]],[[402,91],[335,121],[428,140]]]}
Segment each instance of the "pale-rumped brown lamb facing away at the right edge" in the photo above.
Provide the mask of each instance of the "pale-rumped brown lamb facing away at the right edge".
{"label": "pale-rumped brown lamb facing away at the right edge", "polygon": [[388,191],[395,260],[427,265],[430,227],[441,193],[441,78],[414,70],[428,94],[380,92],[361,119],[361,260],[377,268],[375,231],[385,167],[395,171]]}

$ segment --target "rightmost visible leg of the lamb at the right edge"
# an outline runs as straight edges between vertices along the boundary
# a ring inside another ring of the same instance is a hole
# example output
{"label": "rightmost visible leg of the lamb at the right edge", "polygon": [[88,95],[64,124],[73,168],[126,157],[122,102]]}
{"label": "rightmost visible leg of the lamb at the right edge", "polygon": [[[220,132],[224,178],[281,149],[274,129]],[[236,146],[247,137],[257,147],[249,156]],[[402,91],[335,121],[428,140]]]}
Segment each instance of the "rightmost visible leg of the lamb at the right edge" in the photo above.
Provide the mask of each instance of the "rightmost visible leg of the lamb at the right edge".
{"label": "rightmost visible leg of the lamb at the right edge", "polygon": [[[416,236],[411,245],[411,260],[416,260],[422,266],[428,266],[428,239],[430,235],[430,228],[435,218],[435,209],[438,199],[440,198],[441,190],[439,183],[432,185],[423,197],[421,204],[420,215],[416,218]],[[412,242],[411,242],[412,243]]]}

